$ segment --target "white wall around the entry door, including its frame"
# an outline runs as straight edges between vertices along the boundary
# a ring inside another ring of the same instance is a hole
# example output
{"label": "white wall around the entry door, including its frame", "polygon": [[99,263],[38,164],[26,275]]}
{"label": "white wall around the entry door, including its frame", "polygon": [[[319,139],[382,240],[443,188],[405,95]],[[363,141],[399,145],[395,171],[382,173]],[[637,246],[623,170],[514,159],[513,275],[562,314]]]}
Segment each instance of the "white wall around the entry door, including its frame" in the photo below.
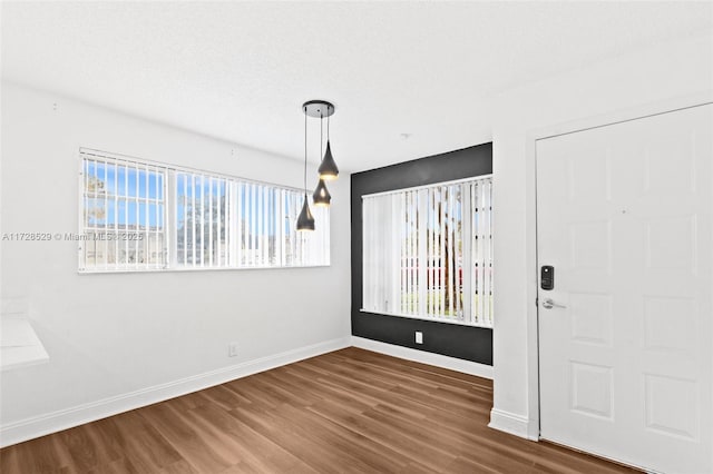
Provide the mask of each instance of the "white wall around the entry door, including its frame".
{"label": "white wall around the entry door, including its frame", "polygon": [[[494,100],[496,324],[490,426],[538,435],[535,139],[713,97],[713,36],[671,41]],[[577,124],[575,124],[577,122]]]}

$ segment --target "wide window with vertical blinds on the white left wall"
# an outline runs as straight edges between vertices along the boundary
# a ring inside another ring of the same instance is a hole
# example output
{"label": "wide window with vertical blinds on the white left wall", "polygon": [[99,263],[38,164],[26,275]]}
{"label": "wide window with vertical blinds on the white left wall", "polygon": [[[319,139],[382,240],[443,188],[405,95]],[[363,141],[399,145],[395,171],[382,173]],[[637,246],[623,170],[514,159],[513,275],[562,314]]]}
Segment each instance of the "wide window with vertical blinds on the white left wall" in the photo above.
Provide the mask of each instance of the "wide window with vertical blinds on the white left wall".
{"label": "wide window with vertical blinds on the white left wall", "polygon": [[329,265],[329,209],[303,191],[82,149],[79,270]]}

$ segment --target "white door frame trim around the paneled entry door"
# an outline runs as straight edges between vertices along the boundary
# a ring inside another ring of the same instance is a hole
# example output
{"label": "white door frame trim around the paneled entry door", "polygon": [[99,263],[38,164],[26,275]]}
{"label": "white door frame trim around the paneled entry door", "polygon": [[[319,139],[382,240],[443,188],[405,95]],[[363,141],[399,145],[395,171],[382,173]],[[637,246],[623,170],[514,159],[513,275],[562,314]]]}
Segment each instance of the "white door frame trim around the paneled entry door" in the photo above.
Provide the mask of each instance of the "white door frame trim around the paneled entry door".
{"label": "white door frame trim around the paneled entry door", "polygon": [[[593,128],[636,120],[639,118],[667,113],[691,107],[713,103],[713,92],[701,92],[660,100],[636,107],[615,110],[582,119],[555,124],[551,126],[530,129],[526,134],[526,176],[527,207],[526,207],[526,260],[527,285],[527,409],[529,419],[527,437],[540,440],[540,384],[539,384],[539,306],[537,305],[538,289],[538,256],[537,256],[537,141],[560,135],[574,134]],[[713,337],[713,335],[712,335]]]}

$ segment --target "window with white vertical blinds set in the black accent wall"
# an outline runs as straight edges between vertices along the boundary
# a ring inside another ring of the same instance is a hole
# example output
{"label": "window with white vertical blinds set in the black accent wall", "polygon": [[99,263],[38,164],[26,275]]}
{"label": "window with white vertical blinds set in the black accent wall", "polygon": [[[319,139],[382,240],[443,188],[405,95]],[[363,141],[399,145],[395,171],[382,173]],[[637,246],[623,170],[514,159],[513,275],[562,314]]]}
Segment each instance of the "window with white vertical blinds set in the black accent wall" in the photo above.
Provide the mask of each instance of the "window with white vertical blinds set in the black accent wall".
{"label": "window with white vertical blinds set in the black accent wall", "polygon": [[492,180],[362,197],[362,309],[492,327]]}

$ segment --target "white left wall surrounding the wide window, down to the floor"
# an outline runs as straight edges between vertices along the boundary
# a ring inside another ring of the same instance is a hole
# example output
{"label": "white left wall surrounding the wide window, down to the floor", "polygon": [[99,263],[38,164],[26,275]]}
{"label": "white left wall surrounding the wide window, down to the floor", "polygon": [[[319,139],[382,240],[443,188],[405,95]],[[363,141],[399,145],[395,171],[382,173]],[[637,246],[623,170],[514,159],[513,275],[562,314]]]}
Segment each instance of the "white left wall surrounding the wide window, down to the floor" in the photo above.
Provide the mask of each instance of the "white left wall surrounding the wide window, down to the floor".
{"label": "white left wall surrounding the wide window, down to the floor", "polygon": [[[296,160],[11,83],[1,131],[2,233],[77,231],[79,147],[302,182]],[[0,442],[348,345],[349,176],[330,190],[323,268],[78,275],[76,243],[2,241],[1,297],[29,302],[50,361],[2,373]]]}

